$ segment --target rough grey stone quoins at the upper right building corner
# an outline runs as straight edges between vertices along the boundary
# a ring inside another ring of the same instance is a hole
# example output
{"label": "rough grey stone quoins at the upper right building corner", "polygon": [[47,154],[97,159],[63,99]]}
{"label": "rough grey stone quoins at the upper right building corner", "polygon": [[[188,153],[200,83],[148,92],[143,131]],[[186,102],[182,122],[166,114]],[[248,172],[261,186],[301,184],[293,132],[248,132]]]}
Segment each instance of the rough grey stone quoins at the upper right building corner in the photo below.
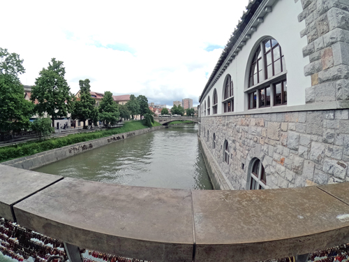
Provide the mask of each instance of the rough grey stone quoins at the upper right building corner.
{"label": "rough grey stone quoins at the upper right building corner", "polygon": [[304,75],[311,75],[306,103],[339,101],[348,108],[349,99],[349,0],[301,0],[308,45],[303,48],[309,64]]}

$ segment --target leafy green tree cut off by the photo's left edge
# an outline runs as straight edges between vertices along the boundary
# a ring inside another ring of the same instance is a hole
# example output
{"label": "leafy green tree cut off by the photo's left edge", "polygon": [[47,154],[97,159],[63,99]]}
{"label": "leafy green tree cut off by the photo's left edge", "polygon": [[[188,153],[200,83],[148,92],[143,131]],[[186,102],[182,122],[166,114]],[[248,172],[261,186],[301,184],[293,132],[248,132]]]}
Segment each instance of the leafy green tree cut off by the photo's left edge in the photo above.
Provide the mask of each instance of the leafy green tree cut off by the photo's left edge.
{"label": "leafy green tree cut off by the photo's left edge", "polygon": [[18,75],[25,72],[23,59],[0,48],[0,134],[29,127],[34,104],[24,99],[24,88]]}

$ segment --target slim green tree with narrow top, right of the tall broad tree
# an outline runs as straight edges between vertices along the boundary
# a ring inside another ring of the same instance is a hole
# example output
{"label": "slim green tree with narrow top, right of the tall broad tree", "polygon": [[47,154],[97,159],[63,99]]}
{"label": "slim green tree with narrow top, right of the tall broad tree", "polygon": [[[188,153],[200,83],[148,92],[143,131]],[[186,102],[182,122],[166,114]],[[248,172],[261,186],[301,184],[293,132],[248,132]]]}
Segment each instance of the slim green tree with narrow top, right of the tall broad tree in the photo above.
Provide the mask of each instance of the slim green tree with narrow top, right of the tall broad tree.
{"label": "slim green tree with narrow top, right of the tall broad tree", "polygon": [[84,129],[87,129],[86,120],[90,119],[92,122],[96,118],[96,101],[89,93],[90,85],[89,79],[80,80],[80,101],[75,101],[72,107],[71,119],[78,119],[84,123]]}

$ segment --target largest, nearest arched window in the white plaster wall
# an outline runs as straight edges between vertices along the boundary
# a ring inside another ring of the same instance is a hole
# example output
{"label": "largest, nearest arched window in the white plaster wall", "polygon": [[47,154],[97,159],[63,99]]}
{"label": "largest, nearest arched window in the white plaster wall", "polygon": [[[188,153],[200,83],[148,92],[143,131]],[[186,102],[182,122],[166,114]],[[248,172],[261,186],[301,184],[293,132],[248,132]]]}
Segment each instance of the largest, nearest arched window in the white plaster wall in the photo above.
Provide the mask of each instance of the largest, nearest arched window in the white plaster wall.
{"label": "largest, nearest arched window in the white plaster wall", "polygon": [[248,109],[287,104],[285,57],[275,39],[262,41],[255,50],[248,87],[253,89],[248,93]]}

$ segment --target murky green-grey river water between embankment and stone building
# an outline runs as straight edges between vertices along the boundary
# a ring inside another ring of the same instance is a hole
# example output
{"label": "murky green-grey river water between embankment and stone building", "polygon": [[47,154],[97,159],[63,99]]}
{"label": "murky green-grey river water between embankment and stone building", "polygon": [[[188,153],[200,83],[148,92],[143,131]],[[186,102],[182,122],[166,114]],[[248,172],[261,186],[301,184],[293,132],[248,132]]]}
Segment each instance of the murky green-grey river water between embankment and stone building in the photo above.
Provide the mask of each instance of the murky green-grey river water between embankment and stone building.
{"label": "murky green-grey river water between embankment and stone building", "polygon": [[110,184],[212,189],[198,124],[172,125],[69,157],[36,171]]}

